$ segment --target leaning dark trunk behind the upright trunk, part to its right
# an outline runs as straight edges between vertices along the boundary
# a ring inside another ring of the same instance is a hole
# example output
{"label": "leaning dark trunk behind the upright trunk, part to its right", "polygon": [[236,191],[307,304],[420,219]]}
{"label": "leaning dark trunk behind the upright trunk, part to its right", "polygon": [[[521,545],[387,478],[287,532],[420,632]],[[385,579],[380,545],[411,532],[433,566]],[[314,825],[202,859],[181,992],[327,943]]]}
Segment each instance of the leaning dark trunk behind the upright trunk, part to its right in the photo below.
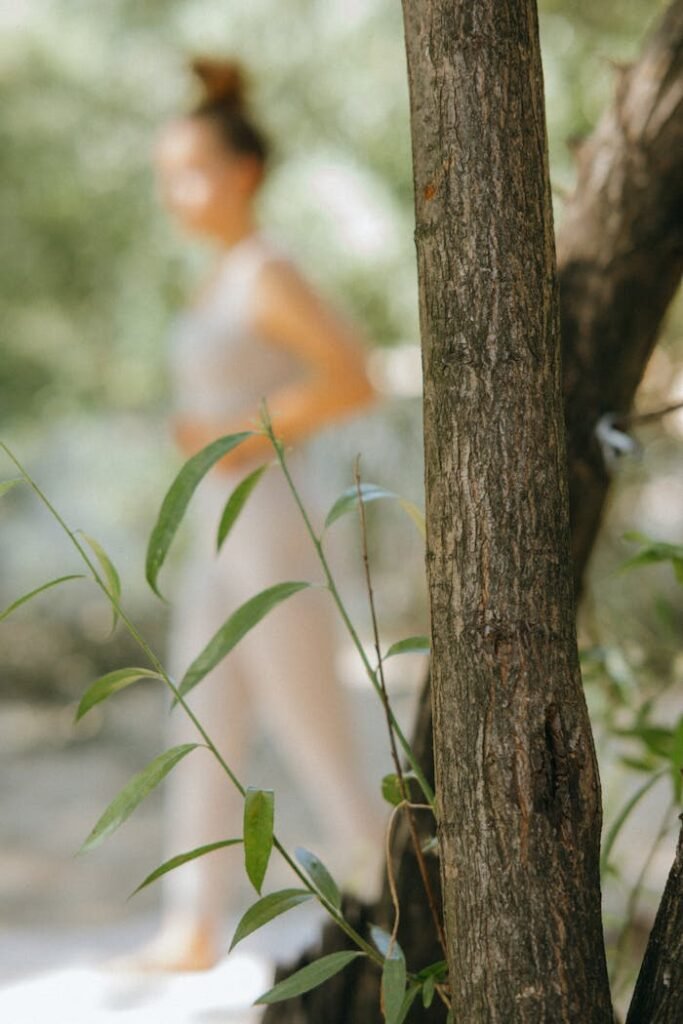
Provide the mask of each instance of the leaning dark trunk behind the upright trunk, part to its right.
{"label": "leaning dark trunk behind the upright trunk, part to its right", "polygon": [[683,2],[578,148],[558,233],[572,551],[580,586],[609,484],[594,430],[627,413],[683,268]]}

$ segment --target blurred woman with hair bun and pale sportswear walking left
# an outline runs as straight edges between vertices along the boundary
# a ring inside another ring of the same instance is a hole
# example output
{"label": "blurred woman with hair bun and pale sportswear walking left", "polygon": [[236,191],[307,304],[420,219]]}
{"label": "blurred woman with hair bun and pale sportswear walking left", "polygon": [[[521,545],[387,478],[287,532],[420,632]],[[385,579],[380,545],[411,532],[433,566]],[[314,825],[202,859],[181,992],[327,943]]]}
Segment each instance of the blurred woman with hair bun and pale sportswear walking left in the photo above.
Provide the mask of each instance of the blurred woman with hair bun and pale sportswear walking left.
{"label": "blurred woman with hair bun and pale sportswear walking left", "polygon": [[[166,206],[186,231],[216,251],[213,272],[172,338],[175,437],[190,456],[222,434],[254,427],[265,397],[275,434],[286,444],[299,442],[371,401],[361,347],[355,331],[257,225],[267,146],[249,112],[242,71],[215,60],[198,60],[194,71],[203,97],[188,116],[165,128],[157,151]],[[258,591],[285,580],[321,580],[312,545],[275,468],[264,474],[216,556],[228,495],[250,469],[271,459],[267,439],[251,438],[193,499],[193,541],[171,624],[176,678],[228,614]],[[299,455],[293,467],[300,477]],[[335,678],[331,611],[319,590],[292,597],[189,699],[238,775],[255,723],[263,722],[314,811],[348,849],[376,841],[379,821]],[[195,738],[180,710],[172,722],[174,742]],[[195,751],[169,779],[167,855],[241,835],[239,794],[207,751]],[[239,870],[236,857],[215,852],[166,876],[163,926],[143,954],[144,966],[191,970],[216,961],[229,874]]]}

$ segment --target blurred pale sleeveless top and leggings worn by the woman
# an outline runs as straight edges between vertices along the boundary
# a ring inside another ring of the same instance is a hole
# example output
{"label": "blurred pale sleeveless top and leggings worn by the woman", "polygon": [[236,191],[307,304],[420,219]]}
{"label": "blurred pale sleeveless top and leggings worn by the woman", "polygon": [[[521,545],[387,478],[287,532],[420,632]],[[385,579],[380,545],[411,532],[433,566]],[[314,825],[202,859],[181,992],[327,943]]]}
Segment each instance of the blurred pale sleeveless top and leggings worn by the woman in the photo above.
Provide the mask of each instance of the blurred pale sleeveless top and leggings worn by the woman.
{"label": "blurred pale sleeveless top and leggings worn by the woman", "polygon": [[[283,258],[261,234],[240,242],[224,257],[203,303],[180,317],[172,372],[181,416],[232,423],[244,415],[248,423],[263,397],[300,377],[298,361],[260,338],[252,325],[259,272],[268,260]],[[299,455],[292,465],[305,490]],[[170,627],[176,679],[248,598],[284,581],[322,581],[314,549],[276,467],[261,478],[216,556],[220,514],[247,472],[213,473],[193,497],[191,541]],[[326,591],[295,594],[240,642],[189,700],[245,784],[248,746],[263,725],[327,827],[362,839],[377,831],[377,815],[350,753],[352,727],[334,673],[332,615]],[[171,742],[197,738],[181,709],[170,721]],[[193,752],[172,772],[166,809],[167,857],[242,835],[242,800],[206,750]],[[223,858],[222,851],[212,853],[167,874],[165,909],[218,919],[229,873]],[[234,860],[230,863],[233,871]]]}

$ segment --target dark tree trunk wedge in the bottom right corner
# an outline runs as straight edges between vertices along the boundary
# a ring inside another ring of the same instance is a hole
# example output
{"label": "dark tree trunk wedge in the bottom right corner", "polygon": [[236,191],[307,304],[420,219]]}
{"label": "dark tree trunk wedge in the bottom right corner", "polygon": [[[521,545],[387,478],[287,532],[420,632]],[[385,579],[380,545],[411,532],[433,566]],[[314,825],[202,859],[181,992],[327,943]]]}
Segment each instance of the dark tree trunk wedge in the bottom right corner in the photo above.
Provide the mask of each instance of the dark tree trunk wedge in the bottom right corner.
{"label": "dark tree trunk wedge in the bottom right corner", "polygon": [[683,831],[650,934],[627,1024],[683,1021]]}

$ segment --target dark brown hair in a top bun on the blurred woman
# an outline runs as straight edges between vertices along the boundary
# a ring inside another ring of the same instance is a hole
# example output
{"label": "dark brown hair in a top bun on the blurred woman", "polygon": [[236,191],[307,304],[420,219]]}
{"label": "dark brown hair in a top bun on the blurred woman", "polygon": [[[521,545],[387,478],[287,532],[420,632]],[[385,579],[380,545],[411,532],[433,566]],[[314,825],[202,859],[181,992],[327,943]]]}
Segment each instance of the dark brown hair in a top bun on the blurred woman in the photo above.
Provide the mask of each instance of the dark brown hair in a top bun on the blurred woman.
{"label": "dark brown hair in a top bun on the blurred woman", "polygon": [[247,82],[242,67],[236,60],[212,57],[197,57],[190,67],[203,93],[190,111],[190,117],[215,124],[222,141],[232,153],[255,157],[265,164],[269,145],[247,106]]}

